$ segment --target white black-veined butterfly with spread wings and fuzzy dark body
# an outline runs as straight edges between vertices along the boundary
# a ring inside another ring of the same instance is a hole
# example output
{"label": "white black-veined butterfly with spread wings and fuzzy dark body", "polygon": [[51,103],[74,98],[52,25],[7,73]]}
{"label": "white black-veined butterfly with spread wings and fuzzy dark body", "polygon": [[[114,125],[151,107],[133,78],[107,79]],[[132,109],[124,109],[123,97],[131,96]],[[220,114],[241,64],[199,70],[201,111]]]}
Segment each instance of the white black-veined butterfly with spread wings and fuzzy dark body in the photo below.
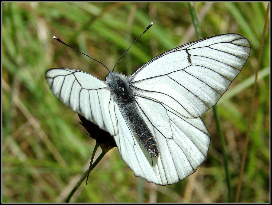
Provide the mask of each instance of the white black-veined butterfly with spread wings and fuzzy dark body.
{"label": "white black-veined butterfly with spread wings and fuzzy dark body", "polygon": [[167,185],[206,160],[210,136],[200,116],[225,93],[249,53],[245,37],[223,34],[160,54],[131,76],[109,72],[102,81],[53,68],[46,80],[61,102],[113,136],[135,176]]}

